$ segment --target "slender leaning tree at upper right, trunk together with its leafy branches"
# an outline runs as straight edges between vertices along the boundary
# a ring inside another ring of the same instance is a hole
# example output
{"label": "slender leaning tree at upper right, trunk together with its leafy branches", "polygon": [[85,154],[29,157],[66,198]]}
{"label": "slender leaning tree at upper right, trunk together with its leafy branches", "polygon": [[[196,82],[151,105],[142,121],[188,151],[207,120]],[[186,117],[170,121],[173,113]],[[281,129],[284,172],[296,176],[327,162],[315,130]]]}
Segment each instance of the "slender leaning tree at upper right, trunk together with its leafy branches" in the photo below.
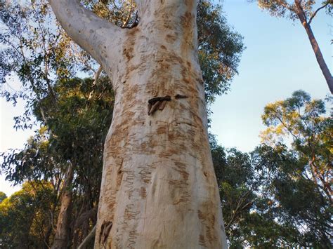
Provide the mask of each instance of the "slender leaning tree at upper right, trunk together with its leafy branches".
{"label": "slender leaning tree at upper right, trunk together with its leafy branches", "polygon": [[333,4],[332,1],[320,1],[321,6],[314,8],[316,1],[313,0],[294,0],[293,3],[289,3],[286,0],[257,0],[260,8],[266,9],[270,15],[276,17],[286,17],[290,20],[299,20],[301,25],[306,30],[308,39],[315,53],[315,58],[317,59],[318,65],[325,77],[327,85],[331,93],[333,93],[333,78],[331,72],[329,72],[329,67],[322,56],[320,47],[315,35],[311,29],[311,22],[318,11],[326,9],[327,14],[332,15]]}

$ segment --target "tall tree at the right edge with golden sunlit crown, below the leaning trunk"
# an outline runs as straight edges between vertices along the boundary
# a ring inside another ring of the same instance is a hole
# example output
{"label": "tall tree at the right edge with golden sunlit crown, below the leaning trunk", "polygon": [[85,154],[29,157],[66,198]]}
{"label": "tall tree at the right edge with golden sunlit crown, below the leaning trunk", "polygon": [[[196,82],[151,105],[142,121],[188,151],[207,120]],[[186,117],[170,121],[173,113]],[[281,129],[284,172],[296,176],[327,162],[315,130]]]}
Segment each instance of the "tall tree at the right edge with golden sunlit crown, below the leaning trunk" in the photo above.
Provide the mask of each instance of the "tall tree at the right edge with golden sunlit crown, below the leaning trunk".
{"label": "tall tree at the right edge with golden sunlit crown, below the leaning trunk", "polygon": [[299,230],[299,245],[332,247],[332,114],[325,101],[298,90],[266,105],[262,119],[268,126],[263,142],[280,147],[292,141],[295,161],[280,167],[271,184],[280,217]]}

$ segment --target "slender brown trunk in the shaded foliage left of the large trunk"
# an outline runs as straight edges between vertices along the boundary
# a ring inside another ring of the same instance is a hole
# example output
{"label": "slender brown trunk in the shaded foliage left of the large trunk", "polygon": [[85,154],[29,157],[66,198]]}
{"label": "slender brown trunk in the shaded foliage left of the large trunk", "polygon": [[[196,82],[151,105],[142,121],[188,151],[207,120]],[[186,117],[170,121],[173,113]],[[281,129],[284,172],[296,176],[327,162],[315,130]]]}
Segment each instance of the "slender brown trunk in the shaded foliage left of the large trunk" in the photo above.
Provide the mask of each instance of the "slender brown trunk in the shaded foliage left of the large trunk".
{"label": "slender brown trunk in the shaded foliage left of the large trunk", "polygon": [[74,168],[72,163],[68,167],[63,185],[63,193],[61,196],[60,211],[58,215],[57,229],[52,245],[52,249],[67,248],[70,238],[70,213],[72,204],[72,180],[74,176]]}

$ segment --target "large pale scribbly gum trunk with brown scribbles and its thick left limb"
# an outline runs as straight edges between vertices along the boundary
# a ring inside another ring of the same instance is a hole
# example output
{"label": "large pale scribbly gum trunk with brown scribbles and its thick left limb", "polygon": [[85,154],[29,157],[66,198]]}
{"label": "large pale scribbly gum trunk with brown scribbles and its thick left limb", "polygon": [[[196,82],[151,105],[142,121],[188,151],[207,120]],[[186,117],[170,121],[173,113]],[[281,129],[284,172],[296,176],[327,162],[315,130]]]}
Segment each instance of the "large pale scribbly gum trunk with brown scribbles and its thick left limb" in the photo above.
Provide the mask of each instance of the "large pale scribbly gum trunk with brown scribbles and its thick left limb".
{"label": "large pale scribbly gum trunk with brown scribbles and its thick left limb", "polygon": [[115,90],[95,247],[226,248],[197,55],[197,1],[137,0],[133,29],[79,1],[49,2]]}

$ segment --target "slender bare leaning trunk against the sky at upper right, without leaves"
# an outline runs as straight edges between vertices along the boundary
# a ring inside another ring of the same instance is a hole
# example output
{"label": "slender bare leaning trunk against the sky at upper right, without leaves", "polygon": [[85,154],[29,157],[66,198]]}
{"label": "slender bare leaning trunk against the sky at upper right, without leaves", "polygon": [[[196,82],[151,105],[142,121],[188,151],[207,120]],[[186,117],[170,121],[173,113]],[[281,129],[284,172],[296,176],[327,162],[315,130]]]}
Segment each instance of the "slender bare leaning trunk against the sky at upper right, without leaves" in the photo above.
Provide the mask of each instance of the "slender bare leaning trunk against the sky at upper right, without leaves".
{"label": "slender bare leaning trunk against the sky at upper right, without leaves", "polygon": [[326,62],[325,62],[324,58],[322,57],[322,52],[320,51],[318,42],[315,39],[311,26],[308,24],[308,22],[306,20],[306,15],[303,11],[303,8],[301,7],[301,2],[299,0],[295,0],[295,5],[297,8],[297,15],[299,17],[299,20],[301,21],[301,24],[303,25],[304,29],[306,29],[306,34],[308,34],[308,39],[313,48],[313,52],[315,53],[315,58],[317,59],[320,69],[322,70],[322,74],[324,74],[324,77],[326,79],[329,90],[333,94],[332,74],[331,74],[331,72],[329,72],[329,68],[327,67]]}

